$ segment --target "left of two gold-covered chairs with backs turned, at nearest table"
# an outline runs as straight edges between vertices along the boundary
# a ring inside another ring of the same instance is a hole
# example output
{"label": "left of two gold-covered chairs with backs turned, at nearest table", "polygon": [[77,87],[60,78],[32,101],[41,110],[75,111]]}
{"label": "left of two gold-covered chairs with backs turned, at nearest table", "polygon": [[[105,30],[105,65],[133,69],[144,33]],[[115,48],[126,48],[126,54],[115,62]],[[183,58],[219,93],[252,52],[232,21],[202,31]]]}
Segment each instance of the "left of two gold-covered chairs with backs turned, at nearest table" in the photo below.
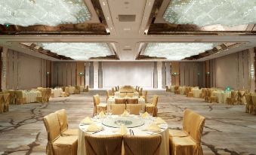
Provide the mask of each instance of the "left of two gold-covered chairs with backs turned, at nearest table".
{"label": "left of two gold-covered chairs with backs turned, at nearest table", "polygon": [[122,135],[85,134],[87,155],[120,155],[122,153]]}

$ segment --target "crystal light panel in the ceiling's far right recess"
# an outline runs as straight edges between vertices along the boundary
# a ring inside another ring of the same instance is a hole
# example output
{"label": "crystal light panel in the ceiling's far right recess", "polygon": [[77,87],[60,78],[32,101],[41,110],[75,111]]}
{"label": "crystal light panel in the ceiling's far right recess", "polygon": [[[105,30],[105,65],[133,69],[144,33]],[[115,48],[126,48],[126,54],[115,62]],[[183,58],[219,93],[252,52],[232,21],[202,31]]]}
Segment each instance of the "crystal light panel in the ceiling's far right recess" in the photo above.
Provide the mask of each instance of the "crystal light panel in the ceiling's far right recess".
{"label": "crystal light panel in the ceiling's far right recess", "polygon": [[181,60],[211,50],[214,43],[148,43],[143,55]]}

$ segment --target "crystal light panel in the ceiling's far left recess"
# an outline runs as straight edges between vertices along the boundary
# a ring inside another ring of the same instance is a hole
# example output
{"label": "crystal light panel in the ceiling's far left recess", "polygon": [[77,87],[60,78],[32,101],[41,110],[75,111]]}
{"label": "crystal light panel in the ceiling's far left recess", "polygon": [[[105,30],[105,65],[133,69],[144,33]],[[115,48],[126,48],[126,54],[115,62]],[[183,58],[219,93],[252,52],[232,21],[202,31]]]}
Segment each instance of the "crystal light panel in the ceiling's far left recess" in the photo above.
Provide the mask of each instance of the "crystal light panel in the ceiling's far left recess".
{"label": "crystal light panel in the ceiling's far left recess", "polygon": [[110,56],[113,53],[106,43],[38,43],[45,50],[70,57],[75,60],[88,60],[91,57]]}

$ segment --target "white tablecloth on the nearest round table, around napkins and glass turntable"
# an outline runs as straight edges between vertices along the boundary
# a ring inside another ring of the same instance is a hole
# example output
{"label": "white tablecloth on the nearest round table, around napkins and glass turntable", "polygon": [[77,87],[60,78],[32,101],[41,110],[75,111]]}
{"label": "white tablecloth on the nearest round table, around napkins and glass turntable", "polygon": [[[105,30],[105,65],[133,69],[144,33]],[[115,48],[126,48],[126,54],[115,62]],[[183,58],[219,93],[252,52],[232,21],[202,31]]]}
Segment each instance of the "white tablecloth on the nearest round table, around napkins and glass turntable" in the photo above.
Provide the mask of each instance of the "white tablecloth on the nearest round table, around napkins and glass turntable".
{"label": "white tablecloth on the nearest round table, around napkins and glass turntable", "polygon": [[[112,117],[118,117],[118,116],[112,116]],[[138,117],[132,115],[131,117]],[[134,127],[131,128],[134,131],[134,135],[152,135],[154,134],[153,132],[148,132],[148,131],[143,131],[142,129],[145,129],[147,126],[149,126],[152,123],[152,120],[145,119],[145,123],[143,126],[139,127]],[[103,126],[100,120],[97,120],[97,125]],[[78,150],[77,154],[78,155],[86,155],[85,151],[85,130],[87,129],[87,125],[79,125],[79,137],[78,137]],[[113,134],[118,134],[119,129],[118,128],[113,128],[109,126],[103,126],[104,130],[101,132],[95,133],[95,135],[113,135]],[[159,154],[161,155],[168,155],[169,154],[169,133],[168,133],[168,125],[164,124],[161,126],[162,131],[157,133],[162,135],[162,143],[160,146],[160,152]],[[129,128],[128,128],[129,129]],[[129,134],[129,132],[127,133]]]}

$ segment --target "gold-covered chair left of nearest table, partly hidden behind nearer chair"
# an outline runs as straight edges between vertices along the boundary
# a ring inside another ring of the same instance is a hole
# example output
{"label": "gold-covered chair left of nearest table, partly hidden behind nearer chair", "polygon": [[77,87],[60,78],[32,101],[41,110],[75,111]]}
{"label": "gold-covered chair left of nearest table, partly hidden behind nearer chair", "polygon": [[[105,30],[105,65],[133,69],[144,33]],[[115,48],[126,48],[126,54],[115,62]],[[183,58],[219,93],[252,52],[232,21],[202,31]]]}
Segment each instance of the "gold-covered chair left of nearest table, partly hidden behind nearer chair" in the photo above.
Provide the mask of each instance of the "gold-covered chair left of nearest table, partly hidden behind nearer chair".
{"label": "gold-covered chair left of nearest table, partly hidden behind nearer chair", "polygon": [[59,123],[60,123],[60,135],[78,135],[78,129],[69,129],[69,125],[67,122],[66,110],[61,109],[59,111],[55,111],[57,114]]}

